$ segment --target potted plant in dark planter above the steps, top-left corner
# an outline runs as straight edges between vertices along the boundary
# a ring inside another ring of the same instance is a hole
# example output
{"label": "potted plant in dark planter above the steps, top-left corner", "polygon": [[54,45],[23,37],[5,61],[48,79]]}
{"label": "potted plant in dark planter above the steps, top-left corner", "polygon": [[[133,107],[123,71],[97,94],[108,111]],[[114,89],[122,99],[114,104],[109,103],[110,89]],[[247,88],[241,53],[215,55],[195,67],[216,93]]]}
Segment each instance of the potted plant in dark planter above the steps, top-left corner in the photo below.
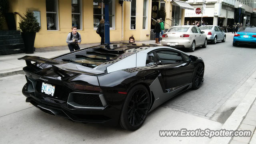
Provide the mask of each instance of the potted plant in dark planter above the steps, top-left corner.
{"label": "potted plant in dark planter above the steps, top-left corner", "polygon": [[14,13],[9,11],[9,0],[0,0],[0,12],[4,15],[8,30],[16,30]]}

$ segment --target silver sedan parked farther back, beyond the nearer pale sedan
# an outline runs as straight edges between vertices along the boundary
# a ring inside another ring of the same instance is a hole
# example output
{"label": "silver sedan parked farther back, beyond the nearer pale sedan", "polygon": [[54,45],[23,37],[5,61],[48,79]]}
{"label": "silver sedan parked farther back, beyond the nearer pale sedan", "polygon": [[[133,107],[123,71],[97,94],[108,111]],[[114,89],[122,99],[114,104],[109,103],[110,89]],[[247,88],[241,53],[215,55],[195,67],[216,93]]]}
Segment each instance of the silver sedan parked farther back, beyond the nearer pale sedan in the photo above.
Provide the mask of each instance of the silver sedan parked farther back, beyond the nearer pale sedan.
{"label": "silver sedan parked farther back, beyond the nearer pale sedan", "polygon": [[226,34],[219,26],[200,26],[200,30],[203,30],[207,36],[207,40],[212,44],[216,44],[217,40],[222,42],[226,41]]}

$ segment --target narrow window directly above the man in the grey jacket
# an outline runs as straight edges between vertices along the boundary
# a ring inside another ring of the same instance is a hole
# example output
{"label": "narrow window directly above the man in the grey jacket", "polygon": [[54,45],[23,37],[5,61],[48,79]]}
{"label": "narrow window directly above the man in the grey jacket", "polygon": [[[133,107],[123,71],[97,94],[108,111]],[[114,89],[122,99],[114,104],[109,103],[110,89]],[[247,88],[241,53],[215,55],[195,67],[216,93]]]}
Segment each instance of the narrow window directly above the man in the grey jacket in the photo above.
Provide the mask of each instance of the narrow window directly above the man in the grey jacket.
{"label": "narrow window directly above the man in the grey jacket", "polygon": [[82,0],[71,0],[72,26],[82,30]]}

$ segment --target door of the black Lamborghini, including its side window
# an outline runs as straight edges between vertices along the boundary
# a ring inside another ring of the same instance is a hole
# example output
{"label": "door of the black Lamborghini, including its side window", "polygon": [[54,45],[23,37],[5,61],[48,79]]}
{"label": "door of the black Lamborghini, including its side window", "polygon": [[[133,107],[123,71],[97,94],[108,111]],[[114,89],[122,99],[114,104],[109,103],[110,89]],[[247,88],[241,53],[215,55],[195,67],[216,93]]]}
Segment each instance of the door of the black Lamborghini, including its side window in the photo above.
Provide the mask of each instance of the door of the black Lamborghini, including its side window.
{"label": "door of the black Lamborghini, including its side window", "polygon": [[173,91],[192,82],[193,65],[186,65],[184,56],[175,50],[160,50],[156,54],[164,65],[163,80],[167,91]]}

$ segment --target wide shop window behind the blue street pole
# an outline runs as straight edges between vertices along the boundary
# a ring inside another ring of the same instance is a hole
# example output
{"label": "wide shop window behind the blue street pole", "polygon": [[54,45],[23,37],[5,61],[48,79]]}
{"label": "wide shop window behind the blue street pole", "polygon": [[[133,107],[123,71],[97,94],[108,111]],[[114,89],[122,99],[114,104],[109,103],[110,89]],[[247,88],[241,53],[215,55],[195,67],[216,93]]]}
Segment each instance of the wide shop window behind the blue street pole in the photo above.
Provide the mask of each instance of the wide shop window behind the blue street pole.
{"label": "wide shop window behind the blue street pole", "polygon": [[[115,0],[109,1],[108,9],[110,29],[115,29]],[[101,19],[105,19],[105,4],[102,0],[93,0],[93,27],[95,30]]]}

